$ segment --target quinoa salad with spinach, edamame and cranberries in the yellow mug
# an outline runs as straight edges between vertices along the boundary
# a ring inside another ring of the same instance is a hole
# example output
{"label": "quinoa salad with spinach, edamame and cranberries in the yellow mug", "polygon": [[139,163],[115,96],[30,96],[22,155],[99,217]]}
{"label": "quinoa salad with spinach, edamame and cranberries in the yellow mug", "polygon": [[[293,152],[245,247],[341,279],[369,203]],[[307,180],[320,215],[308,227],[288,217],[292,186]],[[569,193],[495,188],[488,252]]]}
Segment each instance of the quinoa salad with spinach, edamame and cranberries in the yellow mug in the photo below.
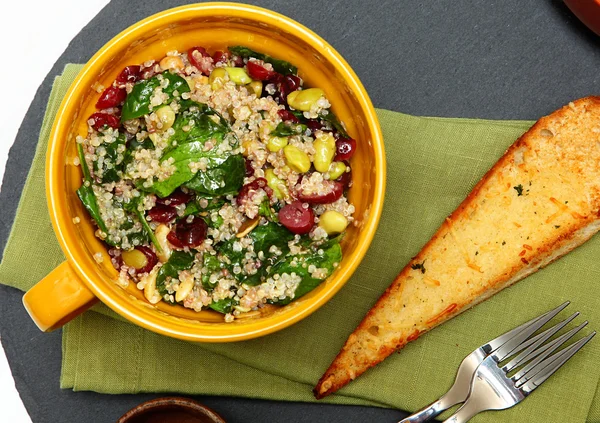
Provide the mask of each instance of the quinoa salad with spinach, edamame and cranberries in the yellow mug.
{"label": "quinoa salad with spinach, edamame and cranberries in the yellow mug", "polygon": [[356,141],[295,66],[193,47],[95,88],[77,195],[122,287],[231,322],[288,304],[339,265]]}

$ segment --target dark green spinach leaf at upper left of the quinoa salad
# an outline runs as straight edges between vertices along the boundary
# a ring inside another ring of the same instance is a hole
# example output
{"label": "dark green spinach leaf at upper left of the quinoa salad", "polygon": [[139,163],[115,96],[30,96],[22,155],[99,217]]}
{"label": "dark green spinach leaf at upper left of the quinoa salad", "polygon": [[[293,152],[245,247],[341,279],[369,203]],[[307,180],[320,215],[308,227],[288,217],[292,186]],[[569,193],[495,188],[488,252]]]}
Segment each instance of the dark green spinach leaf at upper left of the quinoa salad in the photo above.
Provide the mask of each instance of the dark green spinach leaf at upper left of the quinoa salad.
{"label": "dark green spinach leaf at upper left of the quinoa salad", "polygon": [[150,113],[150,100],[154,95],[154,90],[161,86],[161,77],[169,81],[169,84],[162,90],[163,93],[168,95],[167,104],[173,100],[175,91],[179,94],[190,91],[190,87],[185,79],[170,72],[163,72],[160,75],[138,82],[125,98],[125,103],[121,111],[121,122]]}

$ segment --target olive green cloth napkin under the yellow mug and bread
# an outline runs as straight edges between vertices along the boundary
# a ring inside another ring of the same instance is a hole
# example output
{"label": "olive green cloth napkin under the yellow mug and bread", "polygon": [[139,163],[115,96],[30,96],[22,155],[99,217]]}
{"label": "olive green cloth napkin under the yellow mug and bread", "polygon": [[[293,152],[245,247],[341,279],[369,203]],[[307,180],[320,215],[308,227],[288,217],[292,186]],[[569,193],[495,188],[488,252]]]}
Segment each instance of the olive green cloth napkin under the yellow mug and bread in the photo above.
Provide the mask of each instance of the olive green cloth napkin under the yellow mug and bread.
{"label": "olive green cloth napkin under the yellow mug and bread", "polygon": [[[37,151],[0,265],[0,282],[26,290],[64,260],[47,214],[44,156],[58,105],[79,71],[56,78]],[[159,336],[105,306],[63,331],[61,387],[104,393],[180,392],[315,401],[311,389],[396,274],[531,122],[413,117],[378,110],[388,163],[385,208],[369,252],[347,285],[294,326],[251,341],[193,344]],[[360,154],[360,151],[359,153]],[[45,251],[45,260],[29,252]],[[416,410],[443,394],[474,348],[571,300],[600,328],[600,239],[409,344],[324,402]],[[565,314],[564,312],[563,314]],[[474,422],[600,422],[600,342],[591,342],[522,404]]]}

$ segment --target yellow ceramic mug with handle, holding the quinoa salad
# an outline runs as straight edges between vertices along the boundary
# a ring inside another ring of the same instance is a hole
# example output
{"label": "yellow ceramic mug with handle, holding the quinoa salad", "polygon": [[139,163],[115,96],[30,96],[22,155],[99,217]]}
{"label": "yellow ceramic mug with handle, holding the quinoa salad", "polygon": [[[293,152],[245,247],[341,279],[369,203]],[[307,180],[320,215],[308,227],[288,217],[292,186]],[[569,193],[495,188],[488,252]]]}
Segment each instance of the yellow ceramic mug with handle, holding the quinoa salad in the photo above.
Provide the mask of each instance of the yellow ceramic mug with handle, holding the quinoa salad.
{"label": "yellow ceramic mug with handle, holding the quinoa salad", "polygon": [[[134,284],[125,289],[118,286],[117,272],[75,194],[81,184],[81,169],[73,162],[75,137],[86,134],[86,119],[99,96],[94,89],[97,84],[109,86],[127,65],[195,45],[210,51],[246,45],[295,64],[306,86],[325,90],[333,111],[358,142],[349,193],[358,225],[348,230],[342,243],[340,266],[318,288],[291,304],[233,323],[224,323],[222,315],[212,311],[196,313],[165,303],[151,306]],[[356,74],[325,40],[285,16],[248,5],[204,3],[166,10],[131,26],[102,47],[60,106],[47,152],[46,193],[67,261],[26,293],[24,304],[42,330],[60,327],[99,299],[133,323],[179,339],[226,342],[266,335],[308,316],[344,285],[373,239],[384,190],[385,156],[375,111]],[[81,219],[78,224],[73,220],[76,217]],[[97,253],[104,258],[101,263],[94,259]]]}

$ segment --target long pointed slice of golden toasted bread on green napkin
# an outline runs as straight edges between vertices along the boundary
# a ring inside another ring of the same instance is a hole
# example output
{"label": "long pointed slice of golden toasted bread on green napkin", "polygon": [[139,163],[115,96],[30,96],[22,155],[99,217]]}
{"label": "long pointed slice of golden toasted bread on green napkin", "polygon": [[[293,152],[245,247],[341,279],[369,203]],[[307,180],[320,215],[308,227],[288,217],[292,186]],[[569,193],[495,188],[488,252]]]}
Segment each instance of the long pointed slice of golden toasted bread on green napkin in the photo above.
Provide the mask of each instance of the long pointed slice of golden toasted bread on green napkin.
{"label": "long pointed slice of golden toasted bread on green napkin", "polygon": [[587,97],[506,151],[348,337],[315,396],[581,245],[599,211],[600,97]]}

